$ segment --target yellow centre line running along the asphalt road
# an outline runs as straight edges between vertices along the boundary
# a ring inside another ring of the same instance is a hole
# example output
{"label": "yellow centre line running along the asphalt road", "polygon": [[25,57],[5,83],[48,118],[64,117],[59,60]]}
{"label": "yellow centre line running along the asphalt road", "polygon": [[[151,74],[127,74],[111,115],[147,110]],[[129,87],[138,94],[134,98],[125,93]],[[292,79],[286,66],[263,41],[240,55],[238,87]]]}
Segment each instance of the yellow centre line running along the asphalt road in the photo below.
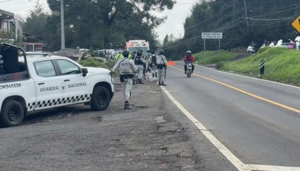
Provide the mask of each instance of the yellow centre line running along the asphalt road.
{"label": "yellow centre line running along the asphalt road", "polygon": [[[168,65],[168,66],[170,66],[170,65]],[[184,71],[184,70],[179,69],[179,68],[176,68],[176,67],[174,67],[174,66],[170,66],[170,67],[172,67],[172,68],[174,68],[174,69],[178,69],[178,70],[180,70],[180,71]],[[247,94],[247,95],[249,95],[249,96],[255,97],[255,98],[257,98],[257,99],[263,100],[263,101],[265,101],[265,102],[269,102],[269,103],[271,103],[271,104],[273,104],[273,105],[277,105],[277,106],[280,106],[280,107],[282,107],[282,108],[285,108],[285,109],[288,109],[288,110],[291,110],[291,111],[294,111],[294,112],[297,112],[297,113],[300,114],[300,110],[298,110],[298,109],[295,109],[295,108],[292,108],[292,107],[283,105],[283,104],[278,103],[278,102],[274,102],[274,101],[269,100],[269,99],[265,99],[265,98],[263,98],[263,97],[257,96],[257,95],[255,95],[255,94],[249,93],[249,92],[247,92],[247,91],[241,90],[241,89],[239,89],[239,88],[233,87],[233,86],[231,86],[231,85],[222,83],[222,82],[220,82],[220,81],[217,81],[217,80],[214,80],[214,79],[211,79],[211,78],[207,78],[207,77],[204,77],[204,76],[201,76],[201,75],[198,75],[198,74],[193,74],[193,75],[196,75],[197,77],[200,77],[200,78],[204,78],[204,79],[213,81],[213,82],[215,82],[215,83],[218,83],[218,84],[221,84],[221,85],[223,85],[223,86],[226,86],[226,87],[232,88],[232,89],[234,89],[234,90],[237,90],[237,91],[239,91],[239,92],[241,92],[241,93]]]}

